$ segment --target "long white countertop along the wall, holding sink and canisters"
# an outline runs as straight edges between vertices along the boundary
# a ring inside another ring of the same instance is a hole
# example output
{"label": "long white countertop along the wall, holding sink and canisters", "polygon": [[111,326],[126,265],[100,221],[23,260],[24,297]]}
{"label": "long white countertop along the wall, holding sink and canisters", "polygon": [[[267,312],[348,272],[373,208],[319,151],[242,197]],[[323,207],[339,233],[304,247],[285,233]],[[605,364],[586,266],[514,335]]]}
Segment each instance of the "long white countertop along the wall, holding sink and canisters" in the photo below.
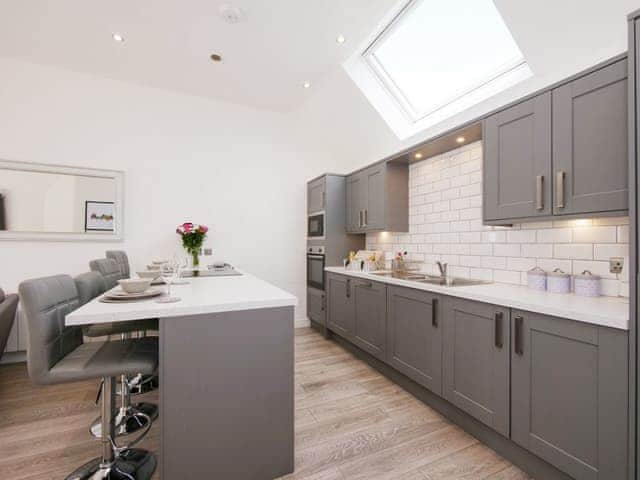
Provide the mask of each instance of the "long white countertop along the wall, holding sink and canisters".
{"label": "long white countertop along the wall, holding sink and canisters", "polygon": [[580,297],[574,294],[539,292],[525,286],[491,283],[486,285],[445,287],[412,280],[382,277],[365,272],[354,272],[344,267],[327,267],[327,272],[340,273],[373,282],[387,283],[441,293],[452,297],[492,303],[509,308],[527,310],[555,317],[604,327],[629,329],[629,300],[620,297]]}

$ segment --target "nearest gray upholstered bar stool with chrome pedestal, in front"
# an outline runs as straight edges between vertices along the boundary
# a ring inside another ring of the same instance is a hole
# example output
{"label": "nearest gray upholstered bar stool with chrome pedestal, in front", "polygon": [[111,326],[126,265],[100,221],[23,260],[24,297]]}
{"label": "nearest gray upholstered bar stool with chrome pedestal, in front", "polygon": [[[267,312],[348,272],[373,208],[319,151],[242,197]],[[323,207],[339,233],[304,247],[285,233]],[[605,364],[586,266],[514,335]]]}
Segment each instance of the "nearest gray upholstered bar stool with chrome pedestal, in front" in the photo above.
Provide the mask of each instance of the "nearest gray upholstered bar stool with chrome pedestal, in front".
{"label": "nearest gray upholstered bar stool with chrome pedestal, in front", "polygon": [[122,372],[151,374],[158,367],[158,344],[151,338],[83,343],[82,329],[65,327],[65,317],[80,305],[74,280],[68,275],[27,280],[19,287],[27,324],[29,376],[38,385],[102,379],[102,455],[79,467],[67,480],[146,480],[155,456],[131,448],[148,427],[126,447],[115,443],[113,407],[115,378]]}

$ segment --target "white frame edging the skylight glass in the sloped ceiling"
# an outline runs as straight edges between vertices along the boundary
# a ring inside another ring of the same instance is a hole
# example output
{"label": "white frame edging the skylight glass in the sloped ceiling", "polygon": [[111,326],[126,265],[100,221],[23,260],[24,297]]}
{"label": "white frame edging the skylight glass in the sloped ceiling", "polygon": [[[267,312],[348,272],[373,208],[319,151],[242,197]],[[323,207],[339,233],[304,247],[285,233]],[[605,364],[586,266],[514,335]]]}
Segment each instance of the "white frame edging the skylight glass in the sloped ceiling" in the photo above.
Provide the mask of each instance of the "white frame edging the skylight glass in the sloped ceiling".
{"label": "white frame edging the skylight glass in the sloped ceiling", "polygon": [[417,124],[418,122],[428,118],[430,115],[433,115],[440,110],[463,100],[467,95],[470,95],[473,92],[478,91],[484,87],[488,87],[493,82],[499,81],[502,77],[505,77],[511,73],[516,73],[518,69],[529,68],[524,55],[521,54],[520,58],[513,60],[510,63],[506,63],[504,68],[501,68],[495,73],[491,74],[489,78],[476,83],[463,92],[454,94],[448,99],[443,100],[436,107],[430,109],[427,112],[418,111],[411,103],[409,98],[407,98],[402,89],[395,83],[391,75],[384,68],[384,65],[376,57],[375,49],[381,41],[383,41],[388,35],[392,34],[393,31],[402,24],[403,18],[406,18],[406,15],[409,15],[411,13],[411,10],[413,10],[416,5],[418,5],[422,1],[425,0],[409,0],[391,19],[387,26],[383,28],[382,31],[374,38],[371,44],[362,52],[361,55],[362,60],[372,72],[374,78],[376,78],[376,80],[382,85],[389,96],[394,99],[395,103],[400,107],[400,111],[404,114],[404,116],[410,123]]}

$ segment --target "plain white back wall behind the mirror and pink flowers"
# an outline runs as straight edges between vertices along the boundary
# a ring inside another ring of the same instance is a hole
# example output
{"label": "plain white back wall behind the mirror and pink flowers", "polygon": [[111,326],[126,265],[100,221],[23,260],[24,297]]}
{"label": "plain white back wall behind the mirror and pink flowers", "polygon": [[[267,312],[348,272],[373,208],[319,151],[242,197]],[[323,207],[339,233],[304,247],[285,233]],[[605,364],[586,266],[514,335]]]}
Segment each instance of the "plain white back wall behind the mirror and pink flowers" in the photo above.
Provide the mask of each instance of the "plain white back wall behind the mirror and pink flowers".
{"label": "plain white back wall behind the mirror and pink flowers", "polygon": [[299,298],[305,317],[305,182],[338,166],[299,147],[283,115],[0,60],[0,158],[125,171],[122,243],[0,242],[0,285],[77,274],[105,249],[132,267],[207,224],[215,258]]}

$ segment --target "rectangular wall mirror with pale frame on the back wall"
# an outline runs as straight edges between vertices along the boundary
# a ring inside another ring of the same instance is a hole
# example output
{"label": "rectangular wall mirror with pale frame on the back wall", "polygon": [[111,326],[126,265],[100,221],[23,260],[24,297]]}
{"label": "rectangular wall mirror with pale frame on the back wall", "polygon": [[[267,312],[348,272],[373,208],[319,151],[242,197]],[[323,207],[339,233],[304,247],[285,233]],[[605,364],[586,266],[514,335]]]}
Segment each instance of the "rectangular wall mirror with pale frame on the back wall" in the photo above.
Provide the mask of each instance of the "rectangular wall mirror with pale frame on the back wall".
{"label": "rectangular wall mirror with pale frame on the back wall", "polygon": [[123,239],[116,170],[0,160],[0,240]]}

